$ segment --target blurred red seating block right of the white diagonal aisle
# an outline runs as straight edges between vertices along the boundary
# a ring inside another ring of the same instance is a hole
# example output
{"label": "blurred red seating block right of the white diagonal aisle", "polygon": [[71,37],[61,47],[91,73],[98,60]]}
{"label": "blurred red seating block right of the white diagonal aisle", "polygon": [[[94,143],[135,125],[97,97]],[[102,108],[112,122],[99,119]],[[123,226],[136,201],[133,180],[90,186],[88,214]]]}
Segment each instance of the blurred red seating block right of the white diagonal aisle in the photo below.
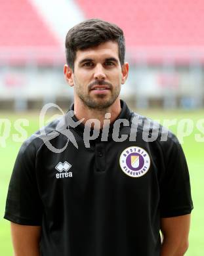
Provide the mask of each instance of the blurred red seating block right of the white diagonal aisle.
{"label": "blurred red seating block right of the white diagonal aisle", "polygon": [[133,54],[141,50],[156,59],[168,52],[179,58],[190,51],[204,52],[203,0],[75,2],[87,18],[102,18],[123,28],[127,49]]}

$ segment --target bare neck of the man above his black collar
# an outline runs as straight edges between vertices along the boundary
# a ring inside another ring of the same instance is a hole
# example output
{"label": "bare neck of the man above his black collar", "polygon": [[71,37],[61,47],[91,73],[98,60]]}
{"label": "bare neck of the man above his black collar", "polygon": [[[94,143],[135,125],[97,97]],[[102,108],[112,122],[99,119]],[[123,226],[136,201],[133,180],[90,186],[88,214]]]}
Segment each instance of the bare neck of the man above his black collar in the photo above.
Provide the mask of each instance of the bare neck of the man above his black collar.
{"label": "bare neck of the man above his black collar", "polygon": [[115,121],[117,116],[119,116],[121,112],[121,103],[119,98],[115,100],[115,102],[112,104],[112,106],[108,108],[89,108],[86,106],[83,102],[74,101],[74,113],[77,119],[84,118],[83,123],[86,123],[88,119],[98,119],[100,121],[100,125],[97,125],[95,123],[96,129],[101,129],[103,127],[104,119],[106,113],[110,113],[110,122],[112,123]]}

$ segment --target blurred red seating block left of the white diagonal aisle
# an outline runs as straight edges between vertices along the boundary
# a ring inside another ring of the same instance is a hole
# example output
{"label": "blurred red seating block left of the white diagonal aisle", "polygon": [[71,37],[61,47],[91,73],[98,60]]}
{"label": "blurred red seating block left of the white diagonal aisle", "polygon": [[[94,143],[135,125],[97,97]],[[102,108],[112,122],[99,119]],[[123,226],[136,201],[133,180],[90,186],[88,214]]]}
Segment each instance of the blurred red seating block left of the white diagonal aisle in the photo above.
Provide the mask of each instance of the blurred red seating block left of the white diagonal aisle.
{"label": "blurred red seating block left of the white diagonal aisle", "polygon": [[1,61],[47,62],[60,53],[60,42],[30,1],[1,1],[0,20]]}

